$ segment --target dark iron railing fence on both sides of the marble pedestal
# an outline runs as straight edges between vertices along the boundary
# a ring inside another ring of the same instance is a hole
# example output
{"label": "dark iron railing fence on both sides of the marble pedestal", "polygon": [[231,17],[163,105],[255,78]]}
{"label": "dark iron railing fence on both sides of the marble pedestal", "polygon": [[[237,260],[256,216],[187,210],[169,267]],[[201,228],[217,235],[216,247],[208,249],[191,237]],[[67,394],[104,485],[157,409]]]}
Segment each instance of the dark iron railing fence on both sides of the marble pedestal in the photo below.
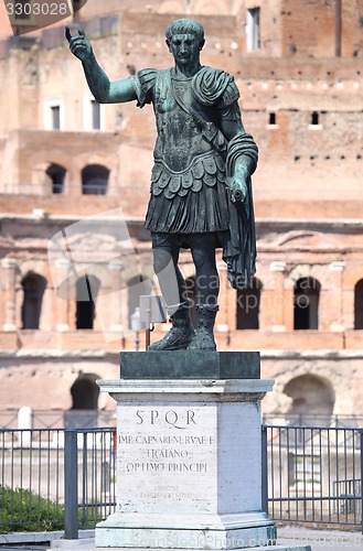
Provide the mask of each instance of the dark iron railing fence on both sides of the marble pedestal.
{"label": "dark iron railing fence on both sides of the marble pedestal", "polygon": [[[359,529],[362,450],[359,429],[263,425],[264,510]],[[76,538],[115,510],[115,428],[0,431],[0,532],[38,525]]]}

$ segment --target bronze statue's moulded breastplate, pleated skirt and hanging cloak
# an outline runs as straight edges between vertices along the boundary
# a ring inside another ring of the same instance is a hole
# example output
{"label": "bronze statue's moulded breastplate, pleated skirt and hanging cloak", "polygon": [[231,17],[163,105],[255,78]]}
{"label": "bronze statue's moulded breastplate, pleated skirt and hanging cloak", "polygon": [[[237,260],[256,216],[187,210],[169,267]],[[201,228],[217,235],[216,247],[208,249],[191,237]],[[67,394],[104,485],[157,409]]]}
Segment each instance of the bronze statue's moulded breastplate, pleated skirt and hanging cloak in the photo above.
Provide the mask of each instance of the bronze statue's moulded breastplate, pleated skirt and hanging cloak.
{"label": "bronze statue's moulded breastplate, pleated skirt and hanging cloak", "polygon": [[227,179],[241,155],[252,158],[255,170],[258,150],[250,134],[228,141],[221,131],[231,106],[239,114],[233,77],[202,67],[192,78],[173,69],[143,69],[131,78],[138,106],[152,102],[158,129],[145,227],[180,235],[183,247],[190,234],[214,233],[231,284],[248,287],[256,261],[250,177],[244,203],[231,202]]}

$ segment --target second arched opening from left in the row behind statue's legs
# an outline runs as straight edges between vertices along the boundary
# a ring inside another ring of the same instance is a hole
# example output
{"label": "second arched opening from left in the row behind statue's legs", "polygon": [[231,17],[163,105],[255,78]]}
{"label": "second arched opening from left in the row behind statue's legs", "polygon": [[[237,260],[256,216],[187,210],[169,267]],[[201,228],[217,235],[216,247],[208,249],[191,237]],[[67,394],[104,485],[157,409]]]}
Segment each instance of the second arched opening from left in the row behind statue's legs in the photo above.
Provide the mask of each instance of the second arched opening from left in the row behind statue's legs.
{"label": "second arched opening from left in the row behind statue's legs", "polygon": [[76,327],[93,329],[96,316],[96,299],[100,281],[94,276],[84,276],[76,283]]}

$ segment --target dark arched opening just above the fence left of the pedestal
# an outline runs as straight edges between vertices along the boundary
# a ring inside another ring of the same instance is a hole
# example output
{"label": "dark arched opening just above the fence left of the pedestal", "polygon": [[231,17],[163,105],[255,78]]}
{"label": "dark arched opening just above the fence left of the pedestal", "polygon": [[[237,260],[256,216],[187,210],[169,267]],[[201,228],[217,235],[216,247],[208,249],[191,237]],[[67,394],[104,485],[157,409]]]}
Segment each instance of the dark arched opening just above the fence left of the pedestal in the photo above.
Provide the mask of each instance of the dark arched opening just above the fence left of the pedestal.
{"label": "dark arched opening just above the fence left of the pedestal", "polygon": [[94,374],[82,374],[71,387],[72,408],[65,412],[67,429],[90,429],[97,426],[99,387]]}

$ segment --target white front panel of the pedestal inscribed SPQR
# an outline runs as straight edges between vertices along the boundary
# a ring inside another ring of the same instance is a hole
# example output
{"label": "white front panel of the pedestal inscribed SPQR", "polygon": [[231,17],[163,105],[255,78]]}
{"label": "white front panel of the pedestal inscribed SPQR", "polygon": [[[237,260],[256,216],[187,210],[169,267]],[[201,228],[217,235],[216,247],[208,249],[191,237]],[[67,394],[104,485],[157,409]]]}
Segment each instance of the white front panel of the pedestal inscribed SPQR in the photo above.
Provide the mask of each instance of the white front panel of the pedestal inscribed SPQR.
{"label": "white front panel of the pedestal inscribed SPQR", "polygon": [[213,512],[213,404],[122,403],[118,408],[118,496],[125,512]]}

